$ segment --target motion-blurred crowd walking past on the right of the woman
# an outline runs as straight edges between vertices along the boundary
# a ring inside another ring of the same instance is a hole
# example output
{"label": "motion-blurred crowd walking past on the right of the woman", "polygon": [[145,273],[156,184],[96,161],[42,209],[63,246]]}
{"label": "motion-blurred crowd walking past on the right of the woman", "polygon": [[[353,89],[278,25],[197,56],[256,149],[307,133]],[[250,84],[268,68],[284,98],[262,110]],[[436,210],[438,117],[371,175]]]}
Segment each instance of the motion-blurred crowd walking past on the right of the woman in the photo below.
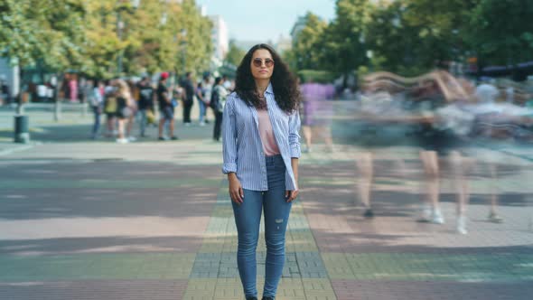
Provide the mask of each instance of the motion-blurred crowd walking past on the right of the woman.
{"label": "motion-blurred crowd walking past on the right of the woman", "polygon": [[[334,151],[332,119],[335,117],[348,116],[351,123],[347,126],[357,131],[352,142],[361,149],[355,157],[355,166],[359,174],[357,194],[364,206],[364,217],[373,218],[376,213],[371,196],[376,176],[375,149],[409,145],[418,149],[423,168],[425,200],[421,202],[418,221],[444,223],[440,194],[441,181],[446,177],[454,186],[456,230],[466,234],[469,176],[473,170],[481,170],[485,180],[491,183],[487,220],[503,221],[498,213],[497,187],[505,162],[494,153],[483,155],[472,148],[482,143],[527,144],[533,140],[533,90],[527,84],[491,78],[474,82],[444,70],[414,78],[376,72],[361,80],[360,91],[351,95],[355,99],[351,101],[353,105],[342,106],[349,108],[344,111],[332,108],[329,101],[335,97],[332,85],[307,80],[301,90],[304,152],[312,151],[315,137],[322,139],[326,152]],[[390,128],[403,130],[395,138],[381,136]],[[405,173],[406,163],[401,158],[393,152],[385,156],[397,161],[394,165],[398,173]]]}

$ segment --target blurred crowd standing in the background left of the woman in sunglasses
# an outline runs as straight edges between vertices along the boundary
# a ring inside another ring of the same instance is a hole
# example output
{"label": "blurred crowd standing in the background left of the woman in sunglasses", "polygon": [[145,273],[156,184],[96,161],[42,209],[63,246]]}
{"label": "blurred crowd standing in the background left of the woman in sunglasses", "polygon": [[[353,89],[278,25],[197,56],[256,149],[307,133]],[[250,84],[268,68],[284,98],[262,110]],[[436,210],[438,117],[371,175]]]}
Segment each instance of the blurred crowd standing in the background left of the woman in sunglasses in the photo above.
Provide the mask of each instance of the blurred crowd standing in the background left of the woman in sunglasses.
{"label": "blurred crowd standing in the background left of the woman in sunglasses", "polygon": [[[87,80],[83,94],[94,113],[91,138],[115,138],[117,143],[126,144],[138,137],[148,137],[146,128],[153,126],[158,128],[158,135],[154,136],[157,140],[177,140],[176,108],[182,106],[183,126],[191,127],[192,107],[196,103],[198,125],[210,124],[207,113],[211,110],[212,137],[220,141],[222,109],[233,85],[226,77],[212,78],[209,74],[197,81],[192,73],[174,82],[167,72],[159,74],[156,80],[148,76],[140,80]],[[101,126],[102,117],[106,118],[105,127]]]}

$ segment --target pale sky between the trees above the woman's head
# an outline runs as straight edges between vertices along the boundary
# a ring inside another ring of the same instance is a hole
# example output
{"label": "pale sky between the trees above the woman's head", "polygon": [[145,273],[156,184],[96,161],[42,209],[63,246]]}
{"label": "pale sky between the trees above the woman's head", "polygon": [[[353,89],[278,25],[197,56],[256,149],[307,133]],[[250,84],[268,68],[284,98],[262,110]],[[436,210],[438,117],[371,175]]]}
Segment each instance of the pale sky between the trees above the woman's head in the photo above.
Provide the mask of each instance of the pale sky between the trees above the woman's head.
{"label": "pale sky between the trees above the woman's head", "polygon": [[207,14],[220,14],[228,25],[229,38],[238,41],[276,42],[290,36],[300,15],[310,11],[330,21],[334,0],[196,0]]}

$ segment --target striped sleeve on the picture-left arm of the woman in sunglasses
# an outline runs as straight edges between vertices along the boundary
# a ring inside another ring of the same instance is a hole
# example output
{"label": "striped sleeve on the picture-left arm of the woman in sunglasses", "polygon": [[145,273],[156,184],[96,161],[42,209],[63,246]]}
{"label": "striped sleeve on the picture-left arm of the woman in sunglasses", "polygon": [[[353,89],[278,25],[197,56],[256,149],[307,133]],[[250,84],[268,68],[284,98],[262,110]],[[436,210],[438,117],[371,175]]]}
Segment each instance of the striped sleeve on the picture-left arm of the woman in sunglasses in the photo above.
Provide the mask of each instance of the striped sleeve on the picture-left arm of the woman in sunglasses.
{"label": "striped sleeve on the picture-left arm of the woman in sunglasses", "polygon": [[237,173],[237,128],[233,105],[233,98],[230,98],[224,107],[222,117],[222,155],[224,159],[222,173],[225,174]]}

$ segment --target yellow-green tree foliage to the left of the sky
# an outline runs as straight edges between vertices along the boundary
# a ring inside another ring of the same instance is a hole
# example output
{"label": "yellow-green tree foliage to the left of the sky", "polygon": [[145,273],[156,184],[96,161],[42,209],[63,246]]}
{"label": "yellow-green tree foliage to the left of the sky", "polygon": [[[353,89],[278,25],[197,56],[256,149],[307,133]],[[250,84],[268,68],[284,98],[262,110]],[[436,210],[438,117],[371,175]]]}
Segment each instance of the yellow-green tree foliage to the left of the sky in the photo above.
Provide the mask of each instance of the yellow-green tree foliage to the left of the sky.
{"label": "yellow-green tree foliage to the left of the sky", "polygon": [[117,75],[119,56],[121,75],[206,70],[211,26],[194,0],[142,0],[137,9],[129,0],[0,2],[2,56],[100,78]]}

